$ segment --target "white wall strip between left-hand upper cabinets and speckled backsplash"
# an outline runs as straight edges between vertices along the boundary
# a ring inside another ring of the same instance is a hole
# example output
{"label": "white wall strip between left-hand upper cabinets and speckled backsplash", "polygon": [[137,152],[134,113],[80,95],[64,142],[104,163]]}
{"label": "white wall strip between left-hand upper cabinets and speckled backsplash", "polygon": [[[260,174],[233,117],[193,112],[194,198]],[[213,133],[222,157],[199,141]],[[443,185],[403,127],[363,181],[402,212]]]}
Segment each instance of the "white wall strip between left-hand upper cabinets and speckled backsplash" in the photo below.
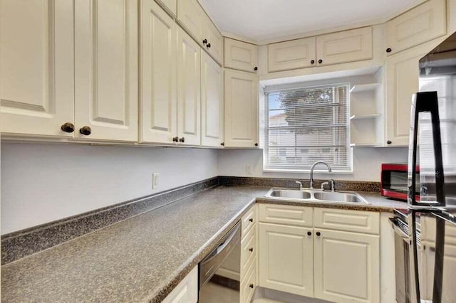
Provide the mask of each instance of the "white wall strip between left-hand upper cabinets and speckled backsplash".
{"label": "white wall strip between left-hand upper cabinets and speckled backsplash", "polygon": [[212,149],[2,142],[1,234],[213,176]]}

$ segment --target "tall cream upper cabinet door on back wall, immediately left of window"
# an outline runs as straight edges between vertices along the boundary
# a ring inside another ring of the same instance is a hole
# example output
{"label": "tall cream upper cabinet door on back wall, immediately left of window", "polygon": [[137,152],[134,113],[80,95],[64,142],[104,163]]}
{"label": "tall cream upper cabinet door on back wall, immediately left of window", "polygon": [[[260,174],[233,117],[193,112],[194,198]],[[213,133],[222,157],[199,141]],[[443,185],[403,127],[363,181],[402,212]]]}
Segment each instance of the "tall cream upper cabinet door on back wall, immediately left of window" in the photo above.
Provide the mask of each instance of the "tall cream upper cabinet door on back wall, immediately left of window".
{"label": "tall cream upper cabinet door on back wall, immediately left of window", "polygon": [[225,147],[258,146],[258,77],[225,70]]}

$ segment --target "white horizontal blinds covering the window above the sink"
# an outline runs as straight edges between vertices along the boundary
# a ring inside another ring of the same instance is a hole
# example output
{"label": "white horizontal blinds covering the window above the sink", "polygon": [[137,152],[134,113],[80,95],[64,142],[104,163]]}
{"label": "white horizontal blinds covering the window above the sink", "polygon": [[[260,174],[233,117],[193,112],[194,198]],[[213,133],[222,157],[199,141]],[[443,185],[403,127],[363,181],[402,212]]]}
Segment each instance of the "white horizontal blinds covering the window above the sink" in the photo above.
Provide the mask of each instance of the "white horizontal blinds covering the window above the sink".
{"label": "white horizontal blinds covering the window above the sink", "polygon": [[265,93],[265,169],[351,171],[348,84]]}

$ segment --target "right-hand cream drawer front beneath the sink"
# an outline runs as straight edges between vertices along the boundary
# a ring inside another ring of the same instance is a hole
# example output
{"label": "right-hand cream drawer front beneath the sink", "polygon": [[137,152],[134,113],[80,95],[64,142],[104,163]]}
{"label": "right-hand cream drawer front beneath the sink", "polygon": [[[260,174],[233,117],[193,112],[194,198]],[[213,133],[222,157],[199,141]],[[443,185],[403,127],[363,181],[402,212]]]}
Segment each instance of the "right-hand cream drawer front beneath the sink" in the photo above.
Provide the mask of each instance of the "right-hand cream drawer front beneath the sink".
{"label": "right-hand cream drawer front beneath the sink", "polygon": [[356,233],[380,233],[380,213],[314,208],[314,227]]}

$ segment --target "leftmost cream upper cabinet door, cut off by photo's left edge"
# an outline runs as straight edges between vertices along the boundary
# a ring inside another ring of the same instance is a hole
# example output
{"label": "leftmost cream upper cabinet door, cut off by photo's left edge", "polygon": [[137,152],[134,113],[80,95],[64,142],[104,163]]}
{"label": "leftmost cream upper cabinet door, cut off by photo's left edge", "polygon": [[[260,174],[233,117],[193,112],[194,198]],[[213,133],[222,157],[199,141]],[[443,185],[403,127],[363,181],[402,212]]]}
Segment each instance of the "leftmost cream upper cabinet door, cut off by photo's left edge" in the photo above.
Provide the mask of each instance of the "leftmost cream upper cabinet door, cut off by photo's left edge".
{"label": "leftmost cream upper cabinet door, cut off by photo's left edge", "polygon": [[1,132],[73,137],[73,1],[0,1]]}

